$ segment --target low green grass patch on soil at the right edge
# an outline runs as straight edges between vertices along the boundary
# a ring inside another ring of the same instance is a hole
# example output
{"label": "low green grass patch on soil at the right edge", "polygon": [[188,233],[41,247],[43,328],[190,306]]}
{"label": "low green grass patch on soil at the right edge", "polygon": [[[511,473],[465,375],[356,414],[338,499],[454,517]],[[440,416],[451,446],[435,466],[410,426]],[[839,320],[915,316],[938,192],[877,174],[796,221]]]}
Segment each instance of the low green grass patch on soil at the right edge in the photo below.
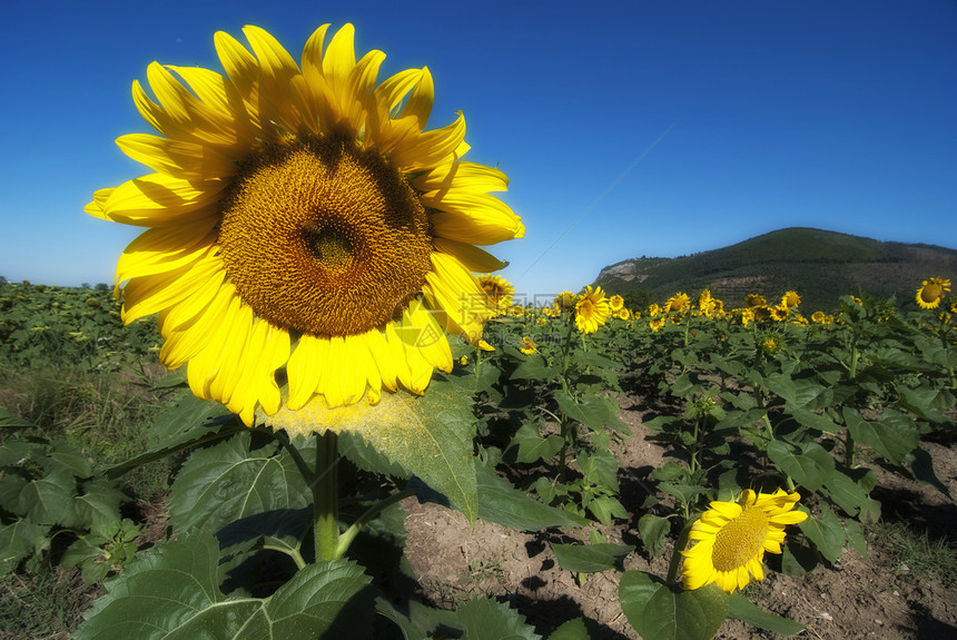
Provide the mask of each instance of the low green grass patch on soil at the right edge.
{"label": "low green grass patch on soil at the right edge", "polygon": [[926,530],[918,531],[905,522],[880,522],[874,535],[898,573],[916,580],[933,577],[946,588],[957,584],[957,543],[947,535],[933,538]]}

